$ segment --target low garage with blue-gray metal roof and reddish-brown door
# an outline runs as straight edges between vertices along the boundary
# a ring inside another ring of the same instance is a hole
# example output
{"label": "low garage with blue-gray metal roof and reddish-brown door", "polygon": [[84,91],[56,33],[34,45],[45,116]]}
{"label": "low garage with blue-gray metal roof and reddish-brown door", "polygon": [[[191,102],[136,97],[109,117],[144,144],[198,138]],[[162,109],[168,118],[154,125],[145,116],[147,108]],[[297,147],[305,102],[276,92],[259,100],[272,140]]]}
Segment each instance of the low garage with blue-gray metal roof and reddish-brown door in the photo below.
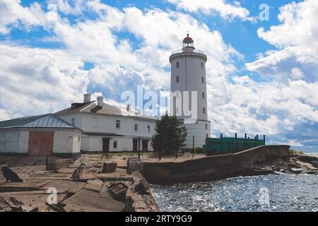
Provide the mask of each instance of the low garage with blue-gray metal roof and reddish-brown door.
{"label": "low garage with blue-gray metal roof and reddish-brown door", "polygon": [[78,158],[81,132],[53,114],[0,121],[0,154]]}

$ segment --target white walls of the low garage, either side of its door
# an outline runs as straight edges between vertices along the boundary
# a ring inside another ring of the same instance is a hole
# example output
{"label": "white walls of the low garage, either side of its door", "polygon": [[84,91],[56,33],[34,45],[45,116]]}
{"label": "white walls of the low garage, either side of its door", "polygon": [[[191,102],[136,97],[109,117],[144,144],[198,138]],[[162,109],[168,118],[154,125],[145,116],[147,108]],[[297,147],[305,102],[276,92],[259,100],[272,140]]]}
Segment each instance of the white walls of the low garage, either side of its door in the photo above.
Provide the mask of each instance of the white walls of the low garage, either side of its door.
{"label": "white walls of the low garage, either side of its door", "polygon": [[54,131],[53,154],[81,152],[81,132],[63,129],[1,129],[0,153],[28,154],[30,131]]}

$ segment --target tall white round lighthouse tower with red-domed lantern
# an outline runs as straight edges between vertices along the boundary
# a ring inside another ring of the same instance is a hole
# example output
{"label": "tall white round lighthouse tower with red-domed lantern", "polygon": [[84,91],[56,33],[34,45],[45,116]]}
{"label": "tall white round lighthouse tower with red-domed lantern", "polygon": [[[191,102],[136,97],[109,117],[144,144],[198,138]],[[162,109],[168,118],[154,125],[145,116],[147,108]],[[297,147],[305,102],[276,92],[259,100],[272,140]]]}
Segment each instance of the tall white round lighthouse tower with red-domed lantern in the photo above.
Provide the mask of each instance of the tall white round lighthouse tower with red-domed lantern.
{"label": "tall white round lighthouse tower with red-domed lantern", "polygon": [[176,115],[187,128],[184,148],[192,148],[193,141],[194,147],[202,147],[206,143],[206,136],[210,136],[211,121],[208,121],[206,100],[206,60],[206,55],[194,48],[194,41],[189,34],[182,41],[182,49],[172,52],[169,59],[172,93],[170,114]]}

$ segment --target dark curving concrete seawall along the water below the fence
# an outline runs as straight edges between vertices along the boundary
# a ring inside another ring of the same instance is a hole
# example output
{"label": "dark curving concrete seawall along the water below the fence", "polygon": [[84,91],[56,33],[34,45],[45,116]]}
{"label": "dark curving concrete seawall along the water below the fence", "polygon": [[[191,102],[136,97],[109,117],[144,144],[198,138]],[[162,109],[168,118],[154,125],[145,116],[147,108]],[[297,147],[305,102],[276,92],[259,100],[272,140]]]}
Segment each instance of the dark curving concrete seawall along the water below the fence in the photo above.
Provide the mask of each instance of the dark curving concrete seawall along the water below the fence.
{"label": "dark curving concrete seawall along the water below the fence", "polygon": [[205,182],[252,175],[257,162],[287,156],[289,145],[264,145],[229,155],[216,155],[184,162],[143,162],[142,174],[152,184]]}

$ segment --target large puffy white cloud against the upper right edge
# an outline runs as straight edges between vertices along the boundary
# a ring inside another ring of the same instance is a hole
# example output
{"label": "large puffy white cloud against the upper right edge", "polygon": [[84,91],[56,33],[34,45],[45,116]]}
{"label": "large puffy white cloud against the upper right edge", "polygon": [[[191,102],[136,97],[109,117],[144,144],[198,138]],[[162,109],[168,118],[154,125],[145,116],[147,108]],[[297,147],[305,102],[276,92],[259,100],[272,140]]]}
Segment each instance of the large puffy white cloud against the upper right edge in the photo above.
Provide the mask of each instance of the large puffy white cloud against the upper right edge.
{"label": "large puffy white cloud against the upper right edge", "polygon": [[[318,1],[306,0],[280,8],[279,25],[269,30],[259,28],[259,37],[278,50],[269,51],[257,61],[246,64],[247,69],[278,81],[299,79],[315,82],[318,74]],[[261,55],[260,55],[261,56]],[[295,68],[302,71],[295,77]],[[294,71],[292,71],[294,69]]]}

